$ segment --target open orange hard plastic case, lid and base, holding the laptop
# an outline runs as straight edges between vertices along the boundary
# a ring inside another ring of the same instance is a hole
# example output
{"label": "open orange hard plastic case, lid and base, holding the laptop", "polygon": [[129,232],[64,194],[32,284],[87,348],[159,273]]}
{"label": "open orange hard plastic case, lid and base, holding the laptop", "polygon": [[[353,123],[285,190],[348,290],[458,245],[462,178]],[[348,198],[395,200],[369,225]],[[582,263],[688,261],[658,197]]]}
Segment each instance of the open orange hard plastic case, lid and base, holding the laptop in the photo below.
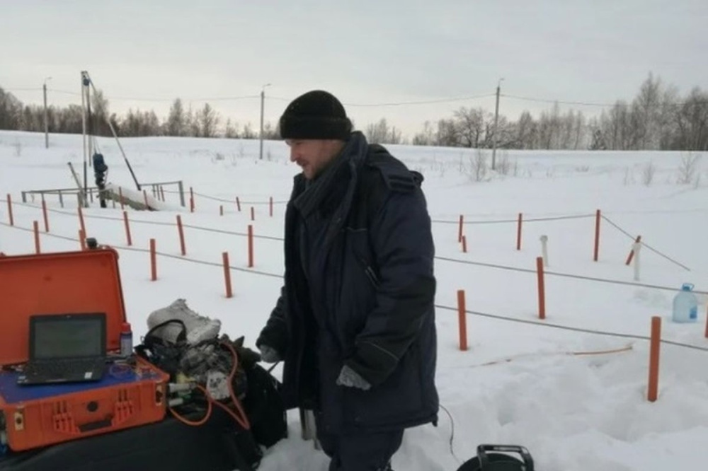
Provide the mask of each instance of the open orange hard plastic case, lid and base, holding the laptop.
{"label": "open orange hard plastic case, lid and base, holding the laptop", "polygon": [[[34,314],[105,313],[106,349],[120,349],[126,321],[118,252],[110,248],[0,256],[0,366],[29,356]],[[11,450],[27,450],[160,421],[169,376],[142,359],[106,366],[95,383],[19,386],[0,372],[0,431]]]}

